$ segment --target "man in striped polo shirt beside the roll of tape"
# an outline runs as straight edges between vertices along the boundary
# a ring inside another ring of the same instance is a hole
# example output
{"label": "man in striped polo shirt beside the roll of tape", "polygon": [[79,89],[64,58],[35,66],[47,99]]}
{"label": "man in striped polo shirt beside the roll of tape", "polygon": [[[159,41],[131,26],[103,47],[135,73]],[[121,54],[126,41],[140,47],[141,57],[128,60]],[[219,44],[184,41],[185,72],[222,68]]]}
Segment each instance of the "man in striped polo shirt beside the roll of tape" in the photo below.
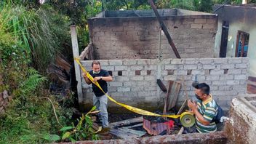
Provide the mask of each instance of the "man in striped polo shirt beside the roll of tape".
{"label": "man in striped polo shirt beside the roll of tape", "polygon": [[200,133],[215,132],[217,130],[213,119],[217,116],[217,103],[209,94],[209,85],[197,84],[195,90],[197,102],[188,100],[188,107],[196,116],[196,130]]}

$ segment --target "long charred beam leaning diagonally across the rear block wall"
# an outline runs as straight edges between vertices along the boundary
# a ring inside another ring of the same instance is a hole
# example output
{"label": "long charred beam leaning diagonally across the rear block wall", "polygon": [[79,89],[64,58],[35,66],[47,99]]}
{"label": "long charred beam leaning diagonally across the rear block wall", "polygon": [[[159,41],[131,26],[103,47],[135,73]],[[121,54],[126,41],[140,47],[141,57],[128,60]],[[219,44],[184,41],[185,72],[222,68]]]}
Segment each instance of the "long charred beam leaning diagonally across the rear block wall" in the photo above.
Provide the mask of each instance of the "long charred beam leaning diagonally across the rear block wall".
{"label": "long charred beam leaning diagonally across the rear block wall", "polygon": [[159,12],[156,9],[155,4],[153,4],[152,0],[148,0],[148,3],[151,4],[151,8],[153,9],[153,12],[155,12],[156,19],[159,20],[161,29],[164,31],[165,36],[167,36],[167,40],[169,42],[169,45],[171,45],[173,52],[175,52],[175,55],[177,58],[180,58],[180,54],[179,54],[179,52],[177,52],[177,48],[175,47],[175,44],[173,43],[172,38],[169,35],[169,32],[167,31],[167,27],[164,25],[163,20],[161,20],[161,17],[159,15]]}

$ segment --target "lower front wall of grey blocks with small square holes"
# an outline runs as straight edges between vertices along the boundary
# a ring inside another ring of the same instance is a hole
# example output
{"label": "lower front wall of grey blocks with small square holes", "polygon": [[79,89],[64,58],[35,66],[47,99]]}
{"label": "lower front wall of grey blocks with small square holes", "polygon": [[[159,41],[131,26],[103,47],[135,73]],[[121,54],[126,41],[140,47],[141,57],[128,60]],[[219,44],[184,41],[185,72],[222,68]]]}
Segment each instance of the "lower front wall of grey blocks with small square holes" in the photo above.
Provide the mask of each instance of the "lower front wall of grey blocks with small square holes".
{"label": "lower front wall of grey blocks with small square holes", "polygon": [[[121,103],[138,108],[159,108],[164,96],[156,84],[161,79],[168,87],[168,81],[185,79],[189,97],[194,97],[192,81],[197,76],[199,82],[206,82],[217,103],[223,107],[230,105],[231,98],[246,93],[248,58],[187,58],[187,59],[137,59],[137,60],[100,60],[102,68],[111,71],[113,81],[108,82],[108,92]],[[92,61],[82,61],[87,70]],[[92,88],[82,80],[84,104],[92,104]],[[178,105],[185,100],[183,88]],[[109,103],[109,107],[117,105]]]}

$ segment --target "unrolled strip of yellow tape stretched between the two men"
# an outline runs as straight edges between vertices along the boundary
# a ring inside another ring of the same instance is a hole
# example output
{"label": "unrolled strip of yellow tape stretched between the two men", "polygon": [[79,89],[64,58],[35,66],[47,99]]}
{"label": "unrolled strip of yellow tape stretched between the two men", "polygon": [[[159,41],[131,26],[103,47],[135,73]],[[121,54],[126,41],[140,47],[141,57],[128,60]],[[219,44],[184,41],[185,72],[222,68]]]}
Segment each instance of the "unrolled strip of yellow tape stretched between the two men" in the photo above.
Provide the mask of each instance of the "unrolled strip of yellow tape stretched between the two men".
{"label": "unrolled strip of yellow tape stretched between the two men", "polygon": [[145,115],[145,116],[161,116],[161,117],[168,117],[168,118],[173,118],[173,119],[177,119],[179,118],[181,115],[160,115],[160,114],[156,114],[156,113],[152,113],[149,111],[145,111],[143,109],[140,108],[135,108],[133,106],[130,105],[126,105],[124,103],[119,103],[116,100],[114,100],[111,96],[109,96],[108,94],[106,94],[103,89],[100,87],[100,84],[96,81],[93,82],[93,77],[87,72],[87,70],[83,67],[83,65],[81,65],[79,58],[75,58],[76,63],[78,63],[80,65],[81,70],[86,73],[87,77],[89,78],[90,81],[92,81],[92,83],[94,83],[97,87],[99,87],[99,89],[108,96],[108,99],[111,100],[113,103],[116,103],[117,105],[121,105],[124,108],[127,108],[129,111],[133,111],[135,113],[141,114],[141,115]]}

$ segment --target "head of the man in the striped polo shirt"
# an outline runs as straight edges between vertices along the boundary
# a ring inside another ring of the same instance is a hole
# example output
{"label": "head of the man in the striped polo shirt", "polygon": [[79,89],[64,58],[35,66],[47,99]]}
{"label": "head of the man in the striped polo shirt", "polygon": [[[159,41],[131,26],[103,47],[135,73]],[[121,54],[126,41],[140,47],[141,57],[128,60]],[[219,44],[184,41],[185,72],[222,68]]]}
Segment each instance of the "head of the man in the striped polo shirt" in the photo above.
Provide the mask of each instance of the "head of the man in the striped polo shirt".
{"label": "head of the man in the striped polo shirt", "polygon": [[195,90],[196,98],[199,100],[204,100],[209,95],[209,85],[205,83],[198,84]]}

